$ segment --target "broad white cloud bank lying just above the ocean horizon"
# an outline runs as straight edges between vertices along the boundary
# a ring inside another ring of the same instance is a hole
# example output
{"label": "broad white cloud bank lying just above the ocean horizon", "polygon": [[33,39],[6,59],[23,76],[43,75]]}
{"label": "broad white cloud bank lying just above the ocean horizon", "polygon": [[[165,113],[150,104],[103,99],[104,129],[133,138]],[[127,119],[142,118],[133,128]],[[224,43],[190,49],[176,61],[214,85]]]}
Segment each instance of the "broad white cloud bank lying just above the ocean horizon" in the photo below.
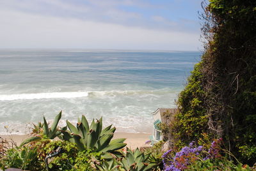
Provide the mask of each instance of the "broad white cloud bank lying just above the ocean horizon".
{"label": "broad white cloud bank lying just above the ocean horizon", "polygon": [[198,50],[198,34],[0,11],[0,48]]}

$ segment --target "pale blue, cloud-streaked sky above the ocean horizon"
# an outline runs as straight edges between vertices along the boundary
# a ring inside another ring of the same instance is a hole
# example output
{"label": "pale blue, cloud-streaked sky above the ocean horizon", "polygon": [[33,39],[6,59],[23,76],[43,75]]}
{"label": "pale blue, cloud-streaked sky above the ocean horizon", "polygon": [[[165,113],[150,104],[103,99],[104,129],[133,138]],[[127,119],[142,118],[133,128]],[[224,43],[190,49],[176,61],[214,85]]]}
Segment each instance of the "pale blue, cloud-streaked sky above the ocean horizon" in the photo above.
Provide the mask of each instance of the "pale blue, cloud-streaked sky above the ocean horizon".
{"label": "pale blue, cloud-streaked sky above the ocean horizon", "polygon": [[202,50],[202,0],[0,0],[0,48]]}

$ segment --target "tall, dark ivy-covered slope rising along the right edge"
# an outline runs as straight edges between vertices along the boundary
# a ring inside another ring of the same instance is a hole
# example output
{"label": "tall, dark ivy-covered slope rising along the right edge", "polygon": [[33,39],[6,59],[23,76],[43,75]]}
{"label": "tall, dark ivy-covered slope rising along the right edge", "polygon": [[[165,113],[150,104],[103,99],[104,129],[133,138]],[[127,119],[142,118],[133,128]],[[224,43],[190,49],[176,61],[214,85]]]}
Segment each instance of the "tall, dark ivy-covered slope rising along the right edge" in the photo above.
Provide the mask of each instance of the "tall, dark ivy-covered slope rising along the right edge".
{"label": "tall, dark ivy-covered slope rising along the right edge", "polygon": [[223,137],[241,161],[256,161],[256,1],[210,0],[202,15],[205,52],[170,124],[175,144]]}

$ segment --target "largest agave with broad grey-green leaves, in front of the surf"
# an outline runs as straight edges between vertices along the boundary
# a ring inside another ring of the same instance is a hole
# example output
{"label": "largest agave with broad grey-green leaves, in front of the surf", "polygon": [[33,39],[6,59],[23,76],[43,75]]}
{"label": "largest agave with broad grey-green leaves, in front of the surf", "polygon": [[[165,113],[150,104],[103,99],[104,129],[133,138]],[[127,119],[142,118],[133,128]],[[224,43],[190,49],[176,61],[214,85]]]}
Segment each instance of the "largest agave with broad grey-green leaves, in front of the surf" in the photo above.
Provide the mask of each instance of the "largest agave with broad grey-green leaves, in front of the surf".
{"label": "largest agave with broad grey-green leaves, in front of the surf", "polygon": [[115,153],[116,150],[125,147],[125,138],[113,138],[116,128],[111,128],[109,125],[102,130],[102,117],[96,121],[93,119],[92,123],[88,121],[84,115],[79,119],[76,126],[67,121],[67,126],[70,131],[62,131],[61,139],[69,142],[74,142],[79,151],[90,149],[92,152],[111,152]]}

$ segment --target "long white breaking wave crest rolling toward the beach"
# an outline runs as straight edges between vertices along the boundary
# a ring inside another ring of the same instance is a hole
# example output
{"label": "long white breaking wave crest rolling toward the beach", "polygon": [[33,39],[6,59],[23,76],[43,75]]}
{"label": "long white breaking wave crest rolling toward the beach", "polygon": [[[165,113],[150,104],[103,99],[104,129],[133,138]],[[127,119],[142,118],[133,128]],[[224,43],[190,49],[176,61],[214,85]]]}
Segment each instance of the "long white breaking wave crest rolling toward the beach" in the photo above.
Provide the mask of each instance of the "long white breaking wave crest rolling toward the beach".
{"label": "long white breaking wave crest rolling toward the beach", "polygon": [[141,94],[166,94],[172,93],[170,90],[154,91],[77,91],[77,92],[52,92],[52,93],[24,93],[24,94],[0,94],[0,101],[10,100],[34,100],[50,98],[83,98],[83,97],[103,97],[118,95],[141,95]]}

